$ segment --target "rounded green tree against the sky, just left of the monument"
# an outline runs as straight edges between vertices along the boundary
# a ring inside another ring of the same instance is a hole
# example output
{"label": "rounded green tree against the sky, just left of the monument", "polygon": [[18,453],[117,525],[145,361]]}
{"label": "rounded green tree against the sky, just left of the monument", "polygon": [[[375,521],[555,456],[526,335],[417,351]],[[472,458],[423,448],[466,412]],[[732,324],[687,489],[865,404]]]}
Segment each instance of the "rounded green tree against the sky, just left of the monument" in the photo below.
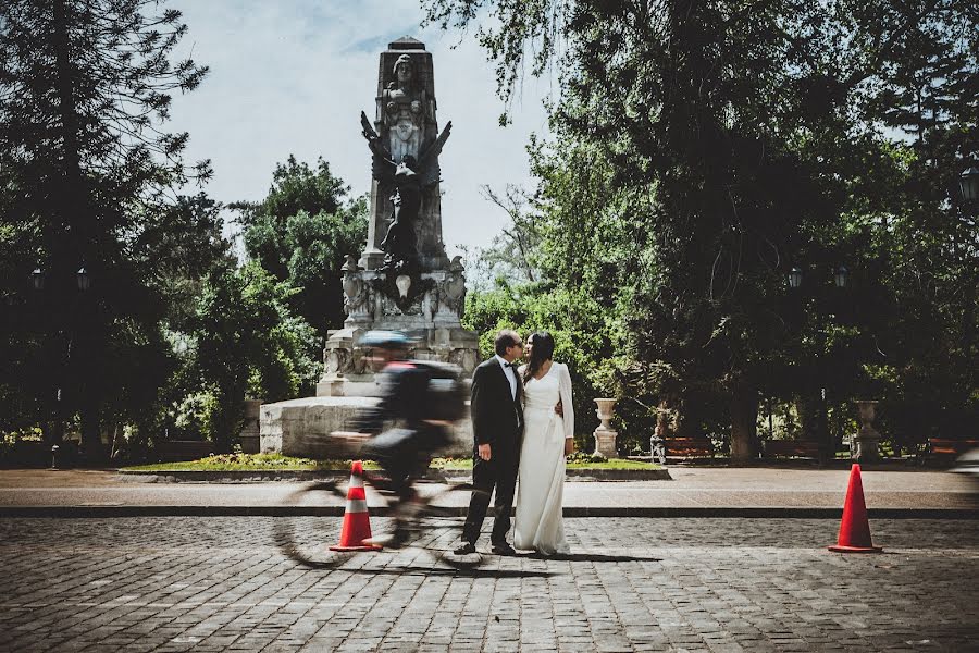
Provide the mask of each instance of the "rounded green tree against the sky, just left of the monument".
{"label": "rounded green tree against the sky, just left of the monument", "polygon": [[348,192],[322,158],[312,170],[289,156],[275,167],[262,201],[231,205],[239,211],[248,256],[297,289],[290,308],[323,338],[344,321],[344,257],[367,243],[367,200],[347,199]]}

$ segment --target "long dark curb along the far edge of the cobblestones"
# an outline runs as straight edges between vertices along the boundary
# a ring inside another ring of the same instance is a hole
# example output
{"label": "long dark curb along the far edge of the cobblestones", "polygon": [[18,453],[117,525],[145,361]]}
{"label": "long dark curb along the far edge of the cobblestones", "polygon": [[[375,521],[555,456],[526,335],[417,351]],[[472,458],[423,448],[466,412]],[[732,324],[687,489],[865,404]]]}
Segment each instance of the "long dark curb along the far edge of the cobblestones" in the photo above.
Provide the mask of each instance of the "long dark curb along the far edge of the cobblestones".
{"label": "long dark curb along the far edge of the cobblestones", "polygon": [[[464,517],[466,506],[439,508],[446,517]],[[104,517],[343,517],[345,506],[0,506],[0,519]],[[387,506],[370,508],[385,517]],[[873,519],[979,519],[979,508],[868,508]],[[487,515],[493,515],[493,508]],[[840,519],[843,508],[818,507],[566,507],[565,517]]]}

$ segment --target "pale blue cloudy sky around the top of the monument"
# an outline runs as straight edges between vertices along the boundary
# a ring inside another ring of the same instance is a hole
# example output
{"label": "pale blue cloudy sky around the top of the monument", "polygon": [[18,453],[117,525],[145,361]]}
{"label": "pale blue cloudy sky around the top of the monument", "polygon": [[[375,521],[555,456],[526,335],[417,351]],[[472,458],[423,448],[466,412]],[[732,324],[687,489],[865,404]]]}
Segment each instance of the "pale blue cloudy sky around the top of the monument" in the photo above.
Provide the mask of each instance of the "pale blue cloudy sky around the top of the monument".
{"label": "pale blue cloudy sky around the top of the monument", "polygon": [[493,64],[472,33],[422,29],[418,0],[171,0],[189,33],[176,56],[210,67],[194,91],[175,96],[169,131],[187,131],[186,162],[211,159],[214,199],[259,200],[275,164],[293,153],[313,165],[322,156],[356,195],[370,190],[371,156],[360,112],[373,120],[381,51],[412,36],[432,52],[438,125],[453,121],[439,157],[443,237],[485,247],[506,213],[480,194],[488,184],[532,187],[525,146],[546,134],[545,83],[524,83],[512,124]]}

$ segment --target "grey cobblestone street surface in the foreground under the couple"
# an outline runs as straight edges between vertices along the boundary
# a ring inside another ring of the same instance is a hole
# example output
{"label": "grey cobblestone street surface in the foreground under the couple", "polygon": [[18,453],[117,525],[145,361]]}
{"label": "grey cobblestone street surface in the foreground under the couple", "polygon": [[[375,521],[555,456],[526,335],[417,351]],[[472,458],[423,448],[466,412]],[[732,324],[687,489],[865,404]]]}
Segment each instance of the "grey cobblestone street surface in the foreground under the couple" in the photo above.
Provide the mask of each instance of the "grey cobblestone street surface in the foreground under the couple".
{"label": "grey cobblestone street surface in the foreground under the couple", "polygon": [[[418,549],[323,568],[276,546],[290,526],[325,556],[339,522],[0,520],[0,651],[979,649],[969,520],[875,520],[882,555],[828,552],[831,519],[568,519],[570,559],[468,570]],[[429,537],[449,546],[458,526]]]}

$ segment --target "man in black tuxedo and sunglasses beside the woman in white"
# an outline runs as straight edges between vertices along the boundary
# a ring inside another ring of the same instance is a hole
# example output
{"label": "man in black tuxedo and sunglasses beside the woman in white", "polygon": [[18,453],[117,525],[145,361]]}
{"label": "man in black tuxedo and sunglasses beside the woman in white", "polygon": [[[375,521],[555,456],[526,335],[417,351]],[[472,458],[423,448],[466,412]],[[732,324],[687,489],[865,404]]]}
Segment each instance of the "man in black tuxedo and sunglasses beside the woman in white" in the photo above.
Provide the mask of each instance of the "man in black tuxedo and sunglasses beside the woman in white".
{"label": "man in black tuxedo and sunglasses beside the woman in white", "polygon": [[517,466],[523,438],[523,385],[517,373],[517,360],[523,356],[523,342],[505,329],[496,335],[496,356],[481,364],[472,375],[472,497],[462,528],[462,543],[456,555],[475,552],[490,495],[496,489],[496,518],[490,544],[493,553],[515,555],[507,543],[510,509],[517,486]]}

